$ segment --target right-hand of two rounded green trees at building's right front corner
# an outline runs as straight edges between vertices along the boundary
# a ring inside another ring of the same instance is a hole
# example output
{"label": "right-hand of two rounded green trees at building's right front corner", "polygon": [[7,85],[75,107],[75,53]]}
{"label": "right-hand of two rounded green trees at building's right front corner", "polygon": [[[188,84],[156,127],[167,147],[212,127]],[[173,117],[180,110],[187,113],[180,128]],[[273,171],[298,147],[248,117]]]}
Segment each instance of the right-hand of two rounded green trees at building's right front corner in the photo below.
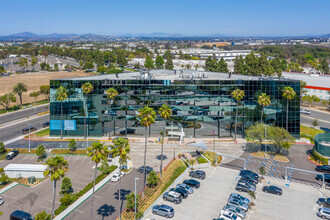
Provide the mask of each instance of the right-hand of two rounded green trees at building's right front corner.
{"label": "right-hand of two rounded green trees at building's right front corner", "polygon": [[291,144],[295,143],[295,138],[287,130],[280,127],[269,127],[267,129],[267,139],[272,142],[276,153],[280,153],[281,149],[288,150]]}

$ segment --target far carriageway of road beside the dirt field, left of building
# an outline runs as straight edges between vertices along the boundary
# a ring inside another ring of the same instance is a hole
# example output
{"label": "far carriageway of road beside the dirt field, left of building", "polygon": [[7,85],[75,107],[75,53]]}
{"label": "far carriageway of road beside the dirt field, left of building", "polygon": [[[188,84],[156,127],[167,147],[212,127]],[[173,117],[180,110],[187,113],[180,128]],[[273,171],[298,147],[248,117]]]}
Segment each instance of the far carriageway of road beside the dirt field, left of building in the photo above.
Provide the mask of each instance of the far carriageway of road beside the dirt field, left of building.
{"label": "far carriageway of road beside the dirt field, left of building", "polygon": [[11,121],[15,121],[15,120],[18,120],[21,118],[26,118],[28,116],[30,117],[32,115],[36,115],[40,112],[45,112],[48,110],[49,110],[49,105],[43,105],[43,106],[37,106],[36,108],[33,107],[33,108],[21,110],[21,111],[3,114],[3,115],[0,115],[0,125],[11,122]]}

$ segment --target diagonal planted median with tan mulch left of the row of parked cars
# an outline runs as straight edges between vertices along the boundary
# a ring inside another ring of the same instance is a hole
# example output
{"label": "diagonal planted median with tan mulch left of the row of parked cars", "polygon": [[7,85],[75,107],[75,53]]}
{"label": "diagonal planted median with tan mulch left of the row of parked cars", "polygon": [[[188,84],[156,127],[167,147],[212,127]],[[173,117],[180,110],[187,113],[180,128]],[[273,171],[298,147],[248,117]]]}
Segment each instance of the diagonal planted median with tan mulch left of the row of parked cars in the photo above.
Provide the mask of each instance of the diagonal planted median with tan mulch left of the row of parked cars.
{"label": "diagonal planted median with tan mulch left of the row of parked cars", "polygon": [[[157,186],[147,186],[142,193],[137,196],[137,210],[144,213],[149,206],[178,178],[185,170],[187,165],[180,159],[172,160],[164,169],[163,179],[159,180]],[[125,210],[122,219],[134,219],[134,211]]]}

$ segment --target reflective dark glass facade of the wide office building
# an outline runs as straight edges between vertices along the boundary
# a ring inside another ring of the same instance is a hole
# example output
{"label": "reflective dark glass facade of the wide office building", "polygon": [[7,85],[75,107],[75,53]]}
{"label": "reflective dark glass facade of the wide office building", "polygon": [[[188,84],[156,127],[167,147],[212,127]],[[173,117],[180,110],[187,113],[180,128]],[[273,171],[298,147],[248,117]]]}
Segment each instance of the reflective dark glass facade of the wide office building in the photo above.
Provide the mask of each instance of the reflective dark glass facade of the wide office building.
{"label": "reflective dark glass facade of the wide office building", "polygon": [[[85,95],[81,86],[90,82],[94,90]],[[69,96],[62,102],[56,101],[55,92],[60,86],[67,88]],[[64,130],[64,136],[142,136],[144,128],[136,118],[138,109],[148,105],[157,112],[156,123],[149,130],[150,136],[159,137],[164,130],[165,121],[158,115],[163,104],[171,106],[173,115],[167,123],[167,131],[183,128],[185,137],[218,138],[234,135],[236,108],[238,107],[237,134],[244,136],[244,129],[260,121],[262,108],[258,105],[256,94],[270,95],[271,104],[265,107],[263,122],[285,127],[287,101],[283,99],[282,89],[290,86],[296,97],[289,101],[289,132],[299,137],[300,133],[300,82],[276,79],[249,80],[157,80],[157,79],[62,79],[50,82],[50,120],[75,120],[76,130]],[[112,102],[110,110],[106,90],[115,88],[119,95]],[[236,89],[245,92],[240,103],[231,97]],[[61,118],[61,106],[63,117]],[[84,126],[86,116],[86,124]],[[111,117],[111,128],[109,120]],[[51,130],[51,136],[59,136],[60,130]]]}

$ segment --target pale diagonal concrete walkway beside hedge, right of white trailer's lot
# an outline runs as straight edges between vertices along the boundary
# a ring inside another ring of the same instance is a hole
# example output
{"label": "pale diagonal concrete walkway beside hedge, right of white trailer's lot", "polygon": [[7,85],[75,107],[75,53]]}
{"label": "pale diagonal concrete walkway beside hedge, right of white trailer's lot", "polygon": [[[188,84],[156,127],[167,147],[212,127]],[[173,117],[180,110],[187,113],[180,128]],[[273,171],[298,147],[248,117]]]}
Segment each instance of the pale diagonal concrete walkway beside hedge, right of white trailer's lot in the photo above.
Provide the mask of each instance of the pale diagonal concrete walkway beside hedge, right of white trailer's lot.
{"label": "pale diagonal concrete walkway beside hedge, right of white trailer's lot", "polygon": [[[113,176],[113,174],[118,173],[119,168],[115,169],[111,174],[109,174],[106,178],[104,178],[101,182],[99,182],[95,186],[95,192],[99,190],[102,186],[104,186],[107,182],[109,182]],[[83,203],[86,199],[88,199],[93,194],[93,188],[86,192],[82,197],[77,199],[73,204],[71,204],[68,208],[66,208],[61,214],[56,216],[54,220],[64,219],[68,214],[70,214],[75,208],[77,208],[81,203]]]}

